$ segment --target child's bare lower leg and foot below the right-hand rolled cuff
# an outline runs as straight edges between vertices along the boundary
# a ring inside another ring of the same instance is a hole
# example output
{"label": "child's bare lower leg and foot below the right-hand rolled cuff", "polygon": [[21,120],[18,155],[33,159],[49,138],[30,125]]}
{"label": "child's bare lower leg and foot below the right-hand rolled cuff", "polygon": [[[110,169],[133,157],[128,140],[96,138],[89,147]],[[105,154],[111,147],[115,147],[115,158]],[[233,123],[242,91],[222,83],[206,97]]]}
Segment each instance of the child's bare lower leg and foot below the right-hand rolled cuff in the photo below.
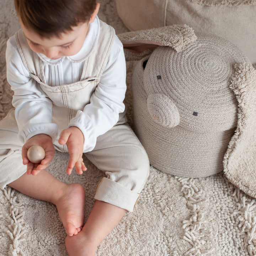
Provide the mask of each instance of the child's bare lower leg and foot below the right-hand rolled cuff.
{"label": "child's bare lower leg and foot below the right-hand rolled cuff", "polygon": [[94,256],[97,246],[125,213],[126,210],[122,208],[96,200],[82,231],[76,236],[66,238],[69,256]]}

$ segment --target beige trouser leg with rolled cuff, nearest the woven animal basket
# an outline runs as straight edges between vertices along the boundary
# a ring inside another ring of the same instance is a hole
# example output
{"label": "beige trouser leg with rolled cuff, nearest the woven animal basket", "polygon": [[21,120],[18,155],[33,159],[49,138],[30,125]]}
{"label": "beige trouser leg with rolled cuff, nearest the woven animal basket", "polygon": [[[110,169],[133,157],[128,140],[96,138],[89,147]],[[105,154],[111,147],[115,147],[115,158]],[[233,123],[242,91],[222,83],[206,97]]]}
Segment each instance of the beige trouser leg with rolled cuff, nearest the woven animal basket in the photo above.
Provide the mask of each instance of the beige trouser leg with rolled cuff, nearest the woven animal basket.
{"label": "beige trouser leg with rolled cuff, nearest the woven animal basket", "polygon": [[95,199],[131,212],[148,177],[149,160],[125,118],[99,136],[85,155],[107,176],[98,183]]}

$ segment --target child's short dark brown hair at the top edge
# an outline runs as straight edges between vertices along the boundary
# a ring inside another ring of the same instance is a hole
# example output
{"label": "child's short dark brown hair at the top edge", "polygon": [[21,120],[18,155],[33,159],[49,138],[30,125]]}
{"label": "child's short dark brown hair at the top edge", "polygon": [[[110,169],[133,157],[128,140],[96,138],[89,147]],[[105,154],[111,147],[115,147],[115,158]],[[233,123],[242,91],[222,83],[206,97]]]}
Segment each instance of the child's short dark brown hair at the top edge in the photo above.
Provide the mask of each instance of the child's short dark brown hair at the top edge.
{"label": "child's short dark brown hair at the top edge", "polygon": [[96,0],[14,0],[23,25],[42,37],[59,37],[90,20]]}

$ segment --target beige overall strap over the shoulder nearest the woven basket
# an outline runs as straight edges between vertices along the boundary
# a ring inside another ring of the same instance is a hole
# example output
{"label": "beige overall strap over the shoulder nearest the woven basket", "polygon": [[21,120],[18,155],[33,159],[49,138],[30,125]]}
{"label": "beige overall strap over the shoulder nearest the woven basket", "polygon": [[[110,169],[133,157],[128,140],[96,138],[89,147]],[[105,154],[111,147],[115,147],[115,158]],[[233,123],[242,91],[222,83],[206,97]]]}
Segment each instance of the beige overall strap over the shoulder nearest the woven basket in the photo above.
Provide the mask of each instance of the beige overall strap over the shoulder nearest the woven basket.
{"label": "beige overall strap over the shoulder nearest the woven basket", "polygon": [[100,78],[107,64],[116,33],[114,28],[99,20],[99,34],[89,57],[85,60],[81,80],[90,77]]}

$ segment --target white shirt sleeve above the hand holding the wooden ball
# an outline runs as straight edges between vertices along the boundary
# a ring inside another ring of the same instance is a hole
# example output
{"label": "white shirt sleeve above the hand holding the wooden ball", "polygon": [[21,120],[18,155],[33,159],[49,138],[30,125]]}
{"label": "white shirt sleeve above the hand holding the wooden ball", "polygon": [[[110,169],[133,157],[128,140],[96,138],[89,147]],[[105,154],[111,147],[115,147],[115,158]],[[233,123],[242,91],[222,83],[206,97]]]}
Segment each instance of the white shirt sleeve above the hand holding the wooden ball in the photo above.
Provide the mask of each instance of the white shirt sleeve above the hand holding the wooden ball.
{"label": "white shirt sleeve above the hand holding the wooden ball", "polygon": [[[14,95],[12,105],[18,124],[18,138],[25,143],[36,134],[47,134],[53,141],[58,126],[52,123],[52,101],[30,77],[22,63],[15,40],[9,39],[6,48],[6,76]],[[14,42],[13,42],[14,41]]]}

